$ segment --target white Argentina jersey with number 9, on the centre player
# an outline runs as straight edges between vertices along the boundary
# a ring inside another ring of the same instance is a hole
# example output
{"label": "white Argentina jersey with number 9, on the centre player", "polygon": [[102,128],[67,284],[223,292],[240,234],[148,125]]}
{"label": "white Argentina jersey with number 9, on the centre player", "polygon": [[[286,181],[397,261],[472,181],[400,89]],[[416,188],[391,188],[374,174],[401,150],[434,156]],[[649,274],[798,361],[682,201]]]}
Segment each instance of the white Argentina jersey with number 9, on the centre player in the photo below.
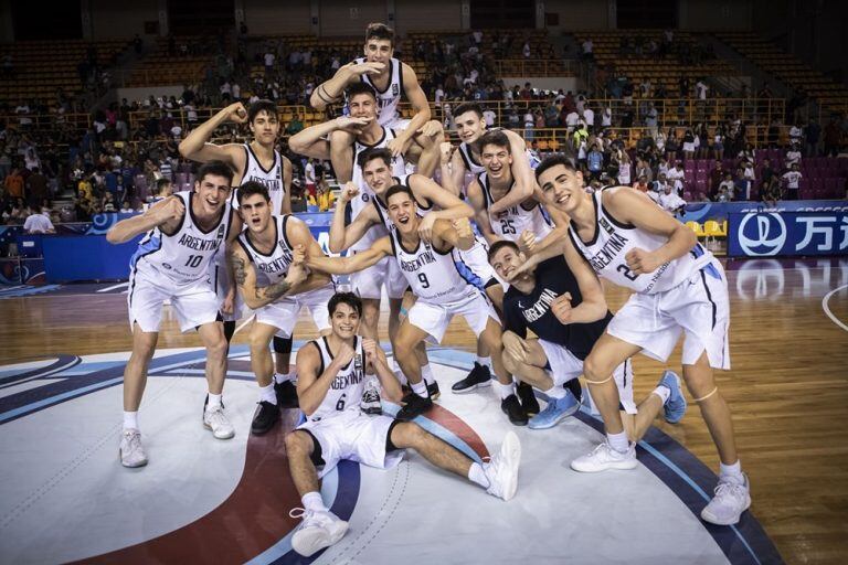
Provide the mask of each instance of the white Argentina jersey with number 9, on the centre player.
{"label": "white Argentina jersey with number 9, on the centre player", "polygon": [[391,234],[392,250],[401,273],[422,300],[439,303],[465,300],[477,290],[459,274],[454,263],[453,248],[442,253],[423,239],[413,252],[401,244],[396,231]]}

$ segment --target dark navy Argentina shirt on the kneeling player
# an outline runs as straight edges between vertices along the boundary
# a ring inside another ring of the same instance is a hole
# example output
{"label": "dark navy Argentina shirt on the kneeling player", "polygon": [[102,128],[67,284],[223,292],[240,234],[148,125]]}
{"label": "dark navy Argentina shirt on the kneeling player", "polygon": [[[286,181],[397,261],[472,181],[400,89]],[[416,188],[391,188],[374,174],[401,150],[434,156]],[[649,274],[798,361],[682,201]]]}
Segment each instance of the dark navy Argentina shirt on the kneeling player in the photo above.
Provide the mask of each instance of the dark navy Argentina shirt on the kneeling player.
{"label": "dark navy Argentina shirt on the kneeling player", "polygon": [[572,308],[583,301],[574,274],[560,255],[539,264],[534,275],[536,286],[529,295],[513,286],[504,295],[506,329],[521,338],[530,329],[540,339],[564,347],[575,358],[586,359],[613,315],[607,311],[605,318],[592,323],[560,323],[551,312],[556,297],[570,292]]}

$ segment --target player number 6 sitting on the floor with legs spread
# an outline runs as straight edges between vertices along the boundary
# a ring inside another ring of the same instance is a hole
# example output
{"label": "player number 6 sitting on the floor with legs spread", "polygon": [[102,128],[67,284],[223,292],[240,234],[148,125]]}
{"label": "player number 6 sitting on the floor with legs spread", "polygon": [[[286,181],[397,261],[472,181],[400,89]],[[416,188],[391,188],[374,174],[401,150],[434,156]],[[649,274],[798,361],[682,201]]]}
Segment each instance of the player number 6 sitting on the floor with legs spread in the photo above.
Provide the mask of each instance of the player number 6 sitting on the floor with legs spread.
{"label": "player number 6 sitting on the floor with legs spread", "polygon": [[[304,556],[337,543],[348,530],[324,504],[320,477],[342,459],[378,469],[391,469],[403,449],[415,449],[439,469],[467,477],[486,492],[510,500],[518,487],[521,444],[515,433],[504,438],[490,462],[478,463],[412,422],[368,416],[359,409],[365,375],[375,374],[385,396],[398,402],[401,387],[383,350],[357,334],[362,303],[352,292],[340,292],[329,303],[331,333],[310,341],[297,353],[300,407],[307,418],[286,436],[286,454],[295,487],[304,503],[301,526],[292,546]],[[350,402],[351,398],[354,402]]]}

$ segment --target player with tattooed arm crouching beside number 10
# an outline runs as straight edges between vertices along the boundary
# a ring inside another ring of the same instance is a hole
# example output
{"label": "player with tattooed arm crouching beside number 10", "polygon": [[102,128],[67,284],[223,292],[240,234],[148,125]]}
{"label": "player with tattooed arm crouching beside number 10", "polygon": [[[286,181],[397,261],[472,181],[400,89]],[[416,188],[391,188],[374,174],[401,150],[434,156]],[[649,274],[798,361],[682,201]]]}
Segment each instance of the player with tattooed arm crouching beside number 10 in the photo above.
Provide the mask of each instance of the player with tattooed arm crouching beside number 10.
{"label": "player with tattooed arm crouching beside number 10", "polygon": [[327,301],[335,294],[335,286],[320,273],[306,277],[303,254],[298,256],[294,249],[299,246],[320,253],[320,246],[304,222],[292,214],[271,213],[271,196],[264,184],[245,182],[239,189],[239,211],[247,227],[229,253],[240,295],[256,313],[250,339],[251,369],[259,385],[259,408],[251,431],[262,435],[277,423],[279,408],[292,407],[282,404],[279,386],[273,380],[268,349],[272,338],[290,338],[303,307],[309,308],[318,331],[328,332]]}

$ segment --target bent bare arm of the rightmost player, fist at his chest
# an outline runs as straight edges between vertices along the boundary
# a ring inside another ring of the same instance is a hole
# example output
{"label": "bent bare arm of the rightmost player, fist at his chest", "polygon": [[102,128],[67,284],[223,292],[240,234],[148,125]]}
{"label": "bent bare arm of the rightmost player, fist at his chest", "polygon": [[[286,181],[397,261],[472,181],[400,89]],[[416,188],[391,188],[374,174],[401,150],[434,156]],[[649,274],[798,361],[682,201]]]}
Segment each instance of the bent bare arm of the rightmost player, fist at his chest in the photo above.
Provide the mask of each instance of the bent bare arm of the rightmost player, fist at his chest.
{"label": "bent bare arm of the rightmost player, fist at his chest", "polygon": [[695,232],[665,213],[642,192],[627,188],[607,190],[604,191],[603,201],[616,220],[668,237],[668,242],[658,249],[647,252],[635,248],[627,254],[627,266],[637,275],[653,273],[660,265],[682,257],[698,243]]}

